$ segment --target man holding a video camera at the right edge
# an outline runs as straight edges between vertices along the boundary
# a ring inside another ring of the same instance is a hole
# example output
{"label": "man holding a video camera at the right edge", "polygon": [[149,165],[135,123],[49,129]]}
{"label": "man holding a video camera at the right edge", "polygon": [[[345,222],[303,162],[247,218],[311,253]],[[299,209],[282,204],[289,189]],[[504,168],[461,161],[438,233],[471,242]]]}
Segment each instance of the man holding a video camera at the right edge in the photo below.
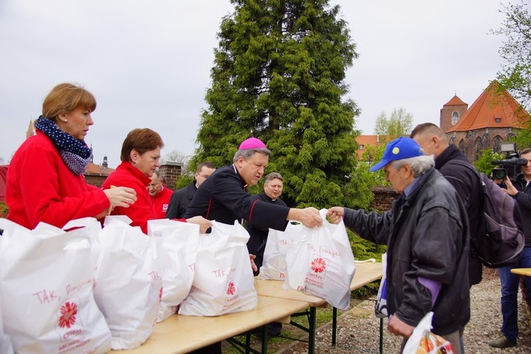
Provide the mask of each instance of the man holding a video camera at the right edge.
{"label": "man holding a video camera at the right edge", "polygon": [[[520,254],[520,261],[513,266],[499,268],[501,281],[501,313],[503,315],[503,324],[501,333],[503,336],[489,343],[489,346],[495,348],[508,348],[516,345],[518,338],[518,284],[520,276],[510,273],[513,268],[531,268],[531,148],[525,148],[520,151],[520,159],[527,161],[517,161],[522,173],[513,177],[510,169],[505,172],[505,182],[507,188],[503,188],[507,194],[513,196],[520,207],[522,214],[522,225],[525,237],[525,247]],[[526,162],[525,165],[523,163]],[[502,167],[504,167],[502,165]],[[503,175],[503,174],[502,174]],[[497,171],[493,171],[493,177],[500,178]],[[513,180],[511,180],[513,178]],[[531,296],[531,277],[526,276],[525,288],[527,296]]]}

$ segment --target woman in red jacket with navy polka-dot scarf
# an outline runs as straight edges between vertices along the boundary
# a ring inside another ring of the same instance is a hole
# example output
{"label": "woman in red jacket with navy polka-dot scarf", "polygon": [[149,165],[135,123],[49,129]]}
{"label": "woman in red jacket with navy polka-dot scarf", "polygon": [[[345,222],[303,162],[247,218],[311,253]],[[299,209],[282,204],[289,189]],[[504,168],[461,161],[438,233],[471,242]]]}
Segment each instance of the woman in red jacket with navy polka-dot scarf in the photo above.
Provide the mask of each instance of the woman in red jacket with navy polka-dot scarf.
{"label": "woman in red jacket with navy polka-dot scarf", "polygon": [[135,203],[135,191],[103,191],[85,182],[92,151],[84,138],[94,124],[96,99],[71,83],[60,83],[42,102],[36,134],[11,159],[6,182],[8,220],[33,229],[40,222],[62,228],[76,218],[101,218],[114,206]]}

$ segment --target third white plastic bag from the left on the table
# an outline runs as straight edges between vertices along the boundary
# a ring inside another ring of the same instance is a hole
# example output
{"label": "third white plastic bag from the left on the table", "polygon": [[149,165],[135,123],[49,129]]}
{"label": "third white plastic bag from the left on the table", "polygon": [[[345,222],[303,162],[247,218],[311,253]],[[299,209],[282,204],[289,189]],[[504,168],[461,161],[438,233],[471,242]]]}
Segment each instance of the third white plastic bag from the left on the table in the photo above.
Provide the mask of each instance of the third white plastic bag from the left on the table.
{"label": "third white plastic bag from the left on the table", "polygon": [[177,312],[192,288],[199,225],[169,219],[149,220],[147,234],[156,241],[159,255],[162,298],[156,321],[161,322]]}

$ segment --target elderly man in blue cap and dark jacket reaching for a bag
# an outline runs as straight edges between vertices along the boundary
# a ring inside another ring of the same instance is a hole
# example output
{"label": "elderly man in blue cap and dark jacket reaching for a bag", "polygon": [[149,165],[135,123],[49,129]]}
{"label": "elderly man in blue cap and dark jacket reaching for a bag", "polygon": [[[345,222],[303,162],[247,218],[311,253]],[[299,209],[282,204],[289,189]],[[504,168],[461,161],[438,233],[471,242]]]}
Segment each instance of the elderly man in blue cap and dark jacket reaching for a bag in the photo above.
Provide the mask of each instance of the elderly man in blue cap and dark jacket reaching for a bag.
{"label": "elderly man in blue cap and dark jacket reaching for a bag", "polygon": [[433,312],[433,333],[461,353],[462,331],[470,319],[467,211],[452,185],[411,138],[387,144],[382,160],[399,198],[390,211],[365,213],[343,207],[329,218],[365,240],[387,244],[388,329],[404,337]]}

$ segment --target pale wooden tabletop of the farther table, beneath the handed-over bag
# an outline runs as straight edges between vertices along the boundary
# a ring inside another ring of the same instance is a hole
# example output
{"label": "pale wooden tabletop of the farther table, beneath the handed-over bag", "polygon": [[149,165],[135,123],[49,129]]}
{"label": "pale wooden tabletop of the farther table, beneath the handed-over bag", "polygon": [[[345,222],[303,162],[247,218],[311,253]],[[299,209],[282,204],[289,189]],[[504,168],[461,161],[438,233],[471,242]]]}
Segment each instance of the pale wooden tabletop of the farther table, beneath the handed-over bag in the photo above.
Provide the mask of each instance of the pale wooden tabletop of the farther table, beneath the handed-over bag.
{"label": "pale wooden tabletop of the farther table, beneath the handed-over bag", "polygon": [[[361,288],[363,285],[372,283],[382,278],[382,263],[357,263],[356,271],[350,290]],[[284,299],[308,302],[311,307],[319,307],[326,304],[320,297],[305,295],[297,290],[284,290],[284,281],[263,281],[254,277],[254,288],[256,293],[262,296],[282,297]]]}

